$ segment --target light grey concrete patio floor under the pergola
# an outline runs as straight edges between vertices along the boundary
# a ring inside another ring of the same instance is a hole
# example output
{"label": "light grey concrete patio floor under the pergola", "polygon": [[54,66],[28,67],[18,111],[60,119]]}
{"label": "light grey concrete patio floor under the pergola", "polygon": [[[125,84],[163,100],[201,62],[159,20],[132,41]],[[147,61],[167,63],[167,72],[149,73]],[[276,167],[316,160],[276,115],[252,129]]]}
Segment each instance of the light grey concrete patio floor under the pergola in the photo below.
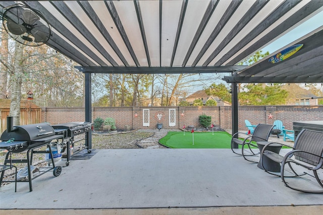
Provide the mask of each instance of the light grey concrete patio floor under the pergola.
{"label": "light grey concrete patio floor under the pergola", "polygon": [[53,177],[48,172],[34,179],[32,192],[28,183],[18,183],[16,193],[14,183],[2,186],[0,213],[29,214],[33,209],[33,214],[321,214],[323,210],[323,194],[287,188],[279,177],[228,149],[98,150],[89,160],[58,165],[62,174]]}

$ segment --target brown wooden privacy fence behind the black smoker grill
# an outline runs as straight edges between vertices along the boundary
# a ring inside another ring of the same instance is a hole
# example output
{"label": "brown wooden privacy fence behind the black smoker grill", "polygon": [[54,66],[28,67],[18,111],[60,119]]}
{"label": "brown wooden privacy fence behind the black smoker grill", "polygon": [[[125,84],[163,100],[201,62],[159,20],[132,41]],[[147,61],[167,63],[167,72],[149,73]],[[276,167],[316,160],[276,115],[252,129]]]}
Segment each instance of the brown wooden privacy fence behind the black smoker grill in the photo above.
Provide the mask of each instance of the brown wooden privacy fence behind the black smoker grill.
{"label": "brown wooden privacy fence behind the black smoker grill", "polygon": [[[0,99],[0,133],[7,129],[7,116],[10,111],[9,99]],[[20,102],[20,125],[34,124],[41,122],[41,108],[33,104],[31,100]]]}

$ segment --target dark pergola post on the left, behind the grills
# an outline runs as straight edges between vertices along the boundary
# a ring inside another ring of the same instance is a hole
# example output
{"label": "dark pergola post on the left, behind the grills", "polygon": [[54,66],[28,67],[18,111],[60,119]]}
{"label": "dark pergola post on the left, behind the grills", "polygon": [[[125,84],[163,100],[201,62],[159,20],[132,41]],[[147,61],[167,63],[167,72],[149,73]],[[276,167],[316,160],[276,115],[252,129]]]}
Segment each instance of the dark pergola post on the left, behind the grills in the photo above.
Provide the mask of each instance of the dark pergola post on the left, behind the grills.
{"label": "dark pergola post on the left, behind the grills", "polygon": [[[91,73],[85,73],[85,121],[92,122]],[[85,133],[85,146],[92,149],[92,132]]]}

